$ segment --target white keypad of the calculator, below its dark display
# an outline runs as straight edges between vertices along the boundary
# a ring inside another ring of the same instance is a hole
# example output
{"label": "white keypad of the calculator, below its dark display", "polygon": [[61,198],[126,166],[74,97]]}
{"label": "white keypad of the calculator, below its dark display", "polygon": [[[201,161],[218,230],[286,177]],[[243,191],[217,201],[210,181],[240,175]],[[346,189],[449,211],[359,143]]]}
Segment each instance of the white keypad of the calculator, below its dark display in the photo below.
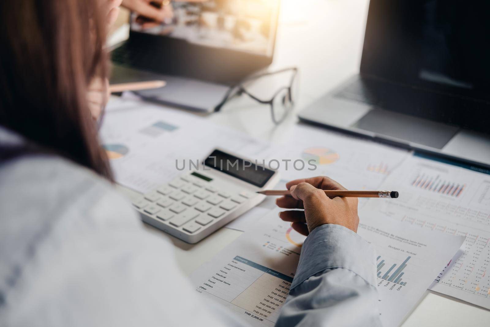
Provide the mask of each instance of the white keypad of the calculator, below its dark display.
{"label": "white keypad of the calculator, below its dark display", "polygon": [[186,175],[145,194],[133,205],[145,215],[193,234],[213,225],[253,196],[239,189],[230,193]]}

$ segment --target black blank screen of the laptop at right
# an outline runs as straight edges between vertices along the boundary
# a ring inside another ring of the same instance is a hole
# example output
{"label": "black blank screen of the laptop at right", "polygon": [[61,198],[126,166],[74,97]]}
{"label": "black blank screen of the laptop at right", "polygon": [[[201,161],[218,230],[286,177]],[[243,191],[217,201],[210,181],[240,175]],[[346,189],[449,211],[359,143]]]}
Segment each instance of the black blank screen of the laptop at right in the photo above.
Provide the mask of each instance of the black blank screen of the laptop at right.
{"label": "black blank screen of the laptop at right", "polygon": [[489,100],[490,2],[371,0],[361,74]]}

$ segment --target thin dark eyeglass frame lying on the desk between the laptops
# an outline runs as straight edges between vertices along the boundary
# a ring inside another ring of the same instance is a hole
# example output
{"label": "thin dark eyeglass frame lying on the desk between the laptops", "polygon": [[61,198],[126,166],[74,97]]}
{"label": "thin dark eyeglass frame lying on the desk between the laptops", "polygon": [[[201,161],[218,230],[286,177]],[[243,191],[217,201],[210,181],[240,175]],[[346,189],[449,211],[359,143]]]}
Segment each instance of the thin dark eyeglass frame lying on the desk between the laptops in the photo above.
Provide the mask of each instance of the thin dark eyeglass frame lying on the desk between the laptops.
{"label": "thin dark eyeglass frame lying on the desk between the laptops", "polygon": [[[272,98],[270,100],[262,100],[262,99],[259,99],[258,97],[254,96],[253,94],[251,94],[250,92],[248,92],[245,89],[245,86],[243,85],[247,81],[256,80],[256,79],[261,78],[261,77],[264,77],[264,76],[281,74],[281,73],[285,73],[285,72],[288,72],[288,71],[293,71],[293,75],[291,76],[291,79],[290,79],[290,82],[289,82],[289,86],[284,86],[284,87],[281,87],[280,89],[278,89],[274,93],[274,95],[272,96]],[[274,124],[278,125],[278,124],[282,123],[286,119],[286,117],[288,115],[285,114],[279,121],[276,120],[275,115],[274,115],[274,100],[275,100],[275,98],[283,90],[286,89],[286,90],[288,90],[289,98],[290,98],[291,103],[292,103],[292,106],[289,107],[289,108],[286,108],[286,110],[290,111],[294,107],[294,105],[295,105],[295,99],[293,99],[293,91],[292,91],[292,89],[293,89],[294,79],[296,78],[296,75],[298,75],[298,68],[297,67],[288,67],[288,68],[280,69],[280,70],[275,71],[275,72],[267,72],[267,73],[262,73],[262,74],[258,74],[258,75],[253,75],[253,76],[250,76],[250,77],[246,77],[240,83],[237,83],[236,85],[233,85],[233,86],[231,86],[229,88],[229,90],[226,92],[223,100],[215,107],[214,112],[221,111],[221,108],[223,107],[223,105],[226,104],[226,102],[228,102],[230,99],[232,99],[236,95],[242,95],[242,94],[245,93],[248,97],[250,97],[251,99],[253,99],[253,100],[255,100],[255,101],[259,102],[259,103],[269,104],[270,105],[270,114],[272,116],[272,121],[274,122]],[[232,93],[232,91],[235,88],[237,88],[238,91],[235,94],[232,95],[231,93]]]}

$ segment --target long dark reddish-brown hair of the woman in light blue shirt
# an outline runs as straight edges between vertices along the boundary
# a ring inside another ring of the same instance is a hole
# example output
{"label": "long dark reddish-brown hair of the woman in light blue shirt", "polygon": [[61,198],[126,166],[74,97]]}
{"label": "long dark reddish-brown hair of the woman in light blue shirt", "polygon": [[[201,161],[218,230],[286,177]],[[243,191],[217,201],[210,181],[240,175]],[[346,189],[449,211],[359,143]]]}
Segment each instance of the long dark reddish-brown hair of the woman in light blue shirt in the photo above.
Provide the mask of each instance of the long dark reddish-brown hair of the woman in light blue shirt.
{"label": "long dark reddish-brown hair of the woman in light blue shirt", "polygon": [[87,101],[107,74],[99,2],[0,1],[0,126],[112,180]]}

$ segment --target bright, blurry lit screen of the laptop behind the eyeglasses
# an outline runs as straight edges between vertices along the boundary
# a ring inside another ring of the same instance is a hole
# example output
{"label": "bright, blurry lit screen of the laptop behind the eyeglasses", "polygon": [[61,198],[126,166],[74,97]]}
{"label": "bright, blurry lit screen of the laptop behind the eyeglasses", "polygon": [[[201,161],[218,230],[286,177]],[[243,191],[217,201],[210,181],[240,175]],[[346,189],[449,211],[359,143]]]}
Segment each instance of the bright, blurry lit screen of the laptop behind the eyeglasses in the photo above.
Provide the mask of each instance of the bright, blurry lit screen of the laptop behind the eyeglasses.
{"label": "bright, blurry lit screen of the laptop behind the eyeglasses", "polygon": [[[158,1],[153,1],[158,3]],[[131,14],[131,31],[210,48],[272,57],[280,0],[172,1],[173,18],[146,27]],[[145,27],[145,28],[144,28]]]}

